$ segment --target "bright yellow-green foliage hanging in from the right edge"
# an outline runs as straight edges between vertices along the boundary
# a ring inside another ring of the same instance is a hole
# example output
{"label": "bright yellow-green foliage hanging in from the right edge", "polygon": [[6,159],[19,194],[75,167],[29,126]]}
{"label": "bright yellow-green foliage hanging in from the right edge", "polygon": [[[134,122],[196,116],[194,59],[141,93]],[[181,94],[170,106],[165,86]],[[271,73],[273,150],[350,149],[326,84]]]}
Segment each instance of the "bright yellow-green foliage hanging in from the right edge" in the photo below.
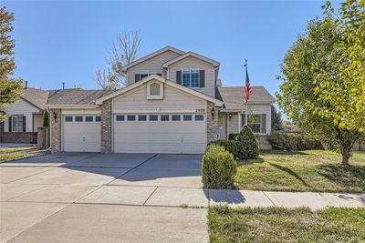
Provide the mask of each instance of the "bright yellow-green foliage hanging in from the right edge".
{"label": "bright yellow-green foliage hanging in from the right edge", "polygon": [[340,38],[327,56],[332,68],[313,66],[318,102],[309,105],[341,128],[365,132],[365,1],[348,0],[338,14],[329,1],[323,8]]}

